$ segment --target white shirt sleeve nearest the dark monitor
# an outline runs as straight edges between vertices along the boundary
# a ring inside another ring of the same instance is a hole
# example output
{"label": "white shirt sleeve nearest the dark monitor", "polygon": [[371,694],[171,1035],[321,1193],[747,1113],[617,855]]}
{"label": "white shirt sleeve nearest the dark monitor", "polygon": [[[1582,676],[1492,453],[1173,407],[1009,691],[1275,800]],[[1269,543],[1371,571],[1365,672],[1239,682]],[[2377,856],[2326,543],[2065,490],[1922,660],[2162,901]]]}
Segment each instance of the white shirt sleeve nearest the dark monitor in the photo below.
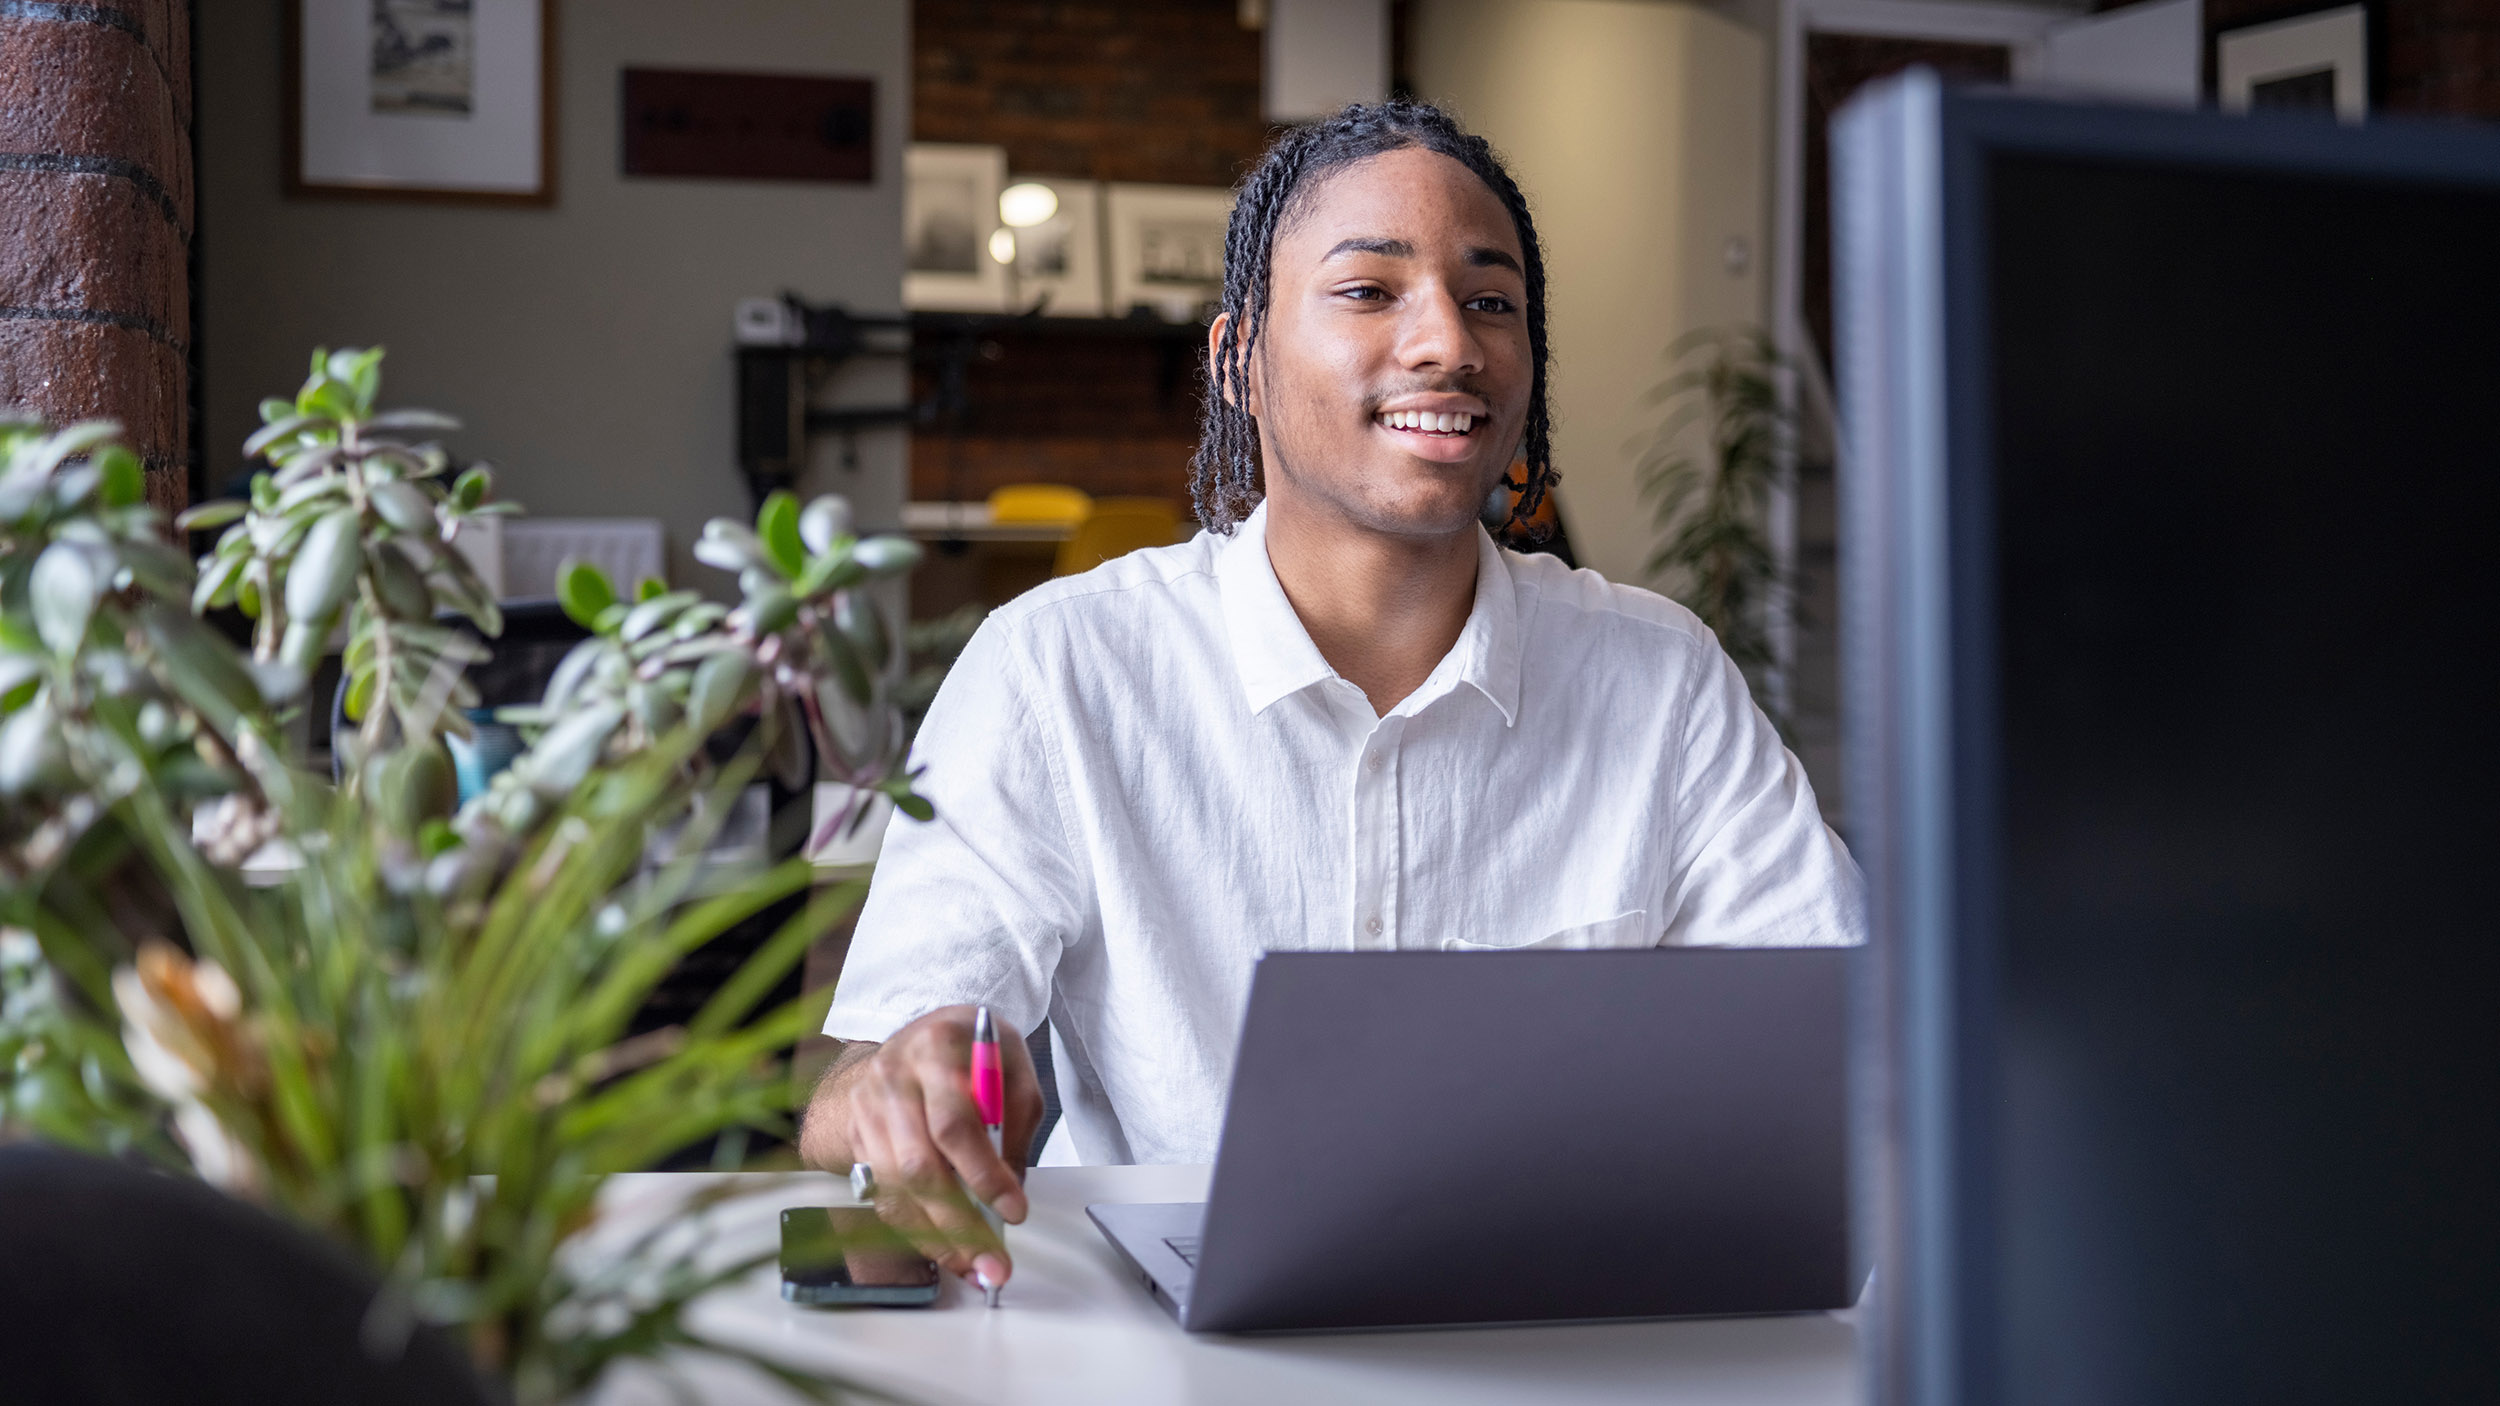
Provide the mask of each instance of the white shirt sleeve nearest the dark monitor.
{"label": "white shirt sleeve nearest the dark monitor", "polygon": [[1662,946],[1865,941],[1865,881],[1822,823],[1805,768],[1718,648],[1682,711],[1675,881]]}

